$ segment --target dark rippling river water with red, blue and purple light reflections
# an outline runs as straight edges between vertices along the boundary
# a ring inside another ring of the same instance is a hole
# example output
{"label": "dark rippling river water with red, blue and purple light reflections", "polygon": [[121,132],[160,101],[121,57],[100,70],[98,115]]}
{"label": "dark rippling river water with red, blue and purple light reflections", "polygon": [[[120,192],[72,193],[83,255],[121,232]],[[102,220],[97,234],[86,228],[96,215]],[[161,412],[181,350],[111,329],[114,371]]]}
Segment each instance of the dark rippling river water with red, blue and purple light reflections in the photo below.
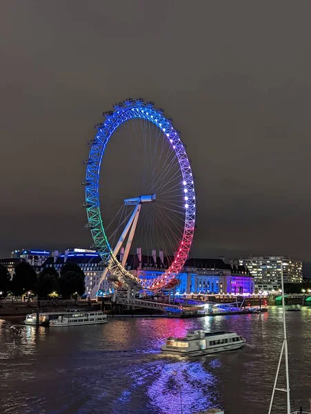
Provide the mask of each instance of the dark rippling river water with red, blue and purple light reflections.
{"label": "dark rippling river water with red, blue and purple light reflections", "polygon": [[[286,317],[292,408],[307,409],[311,308]],[[236,331],[247,344],[192,360],[159,355],[166,337],[189,329]],[[109,319],[38,332],[21,319],[0,319],[0,413],[191,414],[212,406],[225,414],[268,413],[282,335],[275,306],[261,315]],[[285,412],[285,394],[277,393],[273,412]]]}

